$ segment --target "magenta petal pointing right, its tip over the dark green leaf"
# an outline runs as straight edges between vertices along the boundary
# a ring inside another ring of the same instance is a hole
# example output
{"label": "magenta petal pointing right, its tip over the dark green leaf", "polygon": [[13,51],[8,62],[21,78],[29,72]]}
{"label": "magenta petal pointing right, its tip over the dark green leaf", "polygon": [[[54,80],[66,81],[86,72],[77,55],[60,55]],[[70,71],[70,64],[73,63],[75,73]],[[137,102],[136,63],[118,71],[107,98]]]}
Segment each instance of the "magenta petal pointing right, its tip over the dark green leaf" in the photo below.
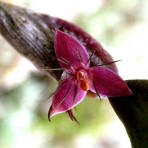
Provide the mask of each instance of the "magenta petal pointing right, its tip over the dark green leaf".
{"label": "magenta petal pointing right, its tip over the dark green leaf", "polygon": [[107,96],[117,97],[132,95],[124,80],[112,70],[105,67],[90,68],[93,84],[96,93]]}

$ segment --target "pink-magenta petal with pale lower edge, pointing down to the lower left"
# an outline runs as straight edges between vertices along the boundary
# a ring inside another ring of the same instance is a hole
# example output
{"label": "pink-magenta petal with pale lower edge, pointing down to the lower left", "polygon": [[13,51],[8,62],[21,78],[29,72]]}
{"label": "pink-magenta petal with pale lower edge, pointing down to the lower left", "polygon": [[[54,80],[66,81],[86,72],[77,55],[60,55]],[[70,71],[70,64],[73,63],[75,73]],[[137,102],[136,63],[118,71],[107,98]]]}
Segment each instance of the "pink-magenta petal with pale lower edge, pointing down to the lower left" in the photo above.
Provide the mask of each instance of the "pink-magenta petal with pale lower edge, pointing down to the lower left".
{"label": "pink-magenta petal with pale lower edge, pointing down to the lower left", "polygon": [[53,97],[49,118],[72,109],[84,99],[86,92],[75,84],[75,80],[70,78],[63,80]]}

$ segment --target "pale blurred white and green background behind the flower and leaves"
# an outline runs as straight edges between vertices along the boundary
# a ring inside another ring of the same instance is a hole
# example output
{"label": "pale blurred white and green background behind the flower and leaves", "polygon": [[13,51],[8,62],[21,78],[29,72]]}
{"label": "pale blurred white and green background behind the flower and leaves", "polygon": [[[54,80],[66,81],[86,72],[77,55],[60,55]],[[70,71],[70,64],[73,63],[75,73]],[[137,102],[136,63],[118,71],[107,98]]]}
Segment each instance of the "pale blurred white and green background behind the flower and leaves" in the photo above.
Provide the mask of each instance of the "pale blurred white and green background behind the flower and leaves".
{"label": "pale blurred white and green background behind the flower and leaves", "polygon": [[[148,78],[147,0],[3,0],[60,17],[83,27],[100,41],[124,79]],[[107,99],[92,96],[74,111],[52,117],[48,96],[57,82],[40,73],[0,36],[1,148],[131,148],[123,124]]]}

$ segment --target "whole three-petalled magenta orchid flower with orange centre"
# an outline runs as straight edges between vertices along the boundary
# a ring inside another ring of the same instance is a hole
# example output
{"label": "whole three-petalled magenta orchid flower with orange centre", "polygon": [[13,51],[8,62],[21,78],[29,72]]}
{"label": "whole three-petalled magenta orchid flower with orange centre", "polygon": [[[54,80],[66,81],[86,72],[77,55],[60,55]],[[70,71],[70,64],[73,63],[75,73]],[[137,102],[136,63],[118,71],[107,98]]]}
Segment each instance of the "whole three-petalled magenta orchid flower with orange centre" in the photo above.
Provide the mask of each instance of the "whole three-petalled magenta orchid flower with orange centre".
{"label": "whole three-petalled magenta orchid flower with orange centre", "polygon": [[68,112],[76,120],[72,108],[86,96],[88,90],[99,97],[119,97],[132,92],[122,78],[103,65],[90,67],[90,58],[84,46],[71,35],[56,30],[55,53],[63,69],[61,81],[54,93],[48,117]]}

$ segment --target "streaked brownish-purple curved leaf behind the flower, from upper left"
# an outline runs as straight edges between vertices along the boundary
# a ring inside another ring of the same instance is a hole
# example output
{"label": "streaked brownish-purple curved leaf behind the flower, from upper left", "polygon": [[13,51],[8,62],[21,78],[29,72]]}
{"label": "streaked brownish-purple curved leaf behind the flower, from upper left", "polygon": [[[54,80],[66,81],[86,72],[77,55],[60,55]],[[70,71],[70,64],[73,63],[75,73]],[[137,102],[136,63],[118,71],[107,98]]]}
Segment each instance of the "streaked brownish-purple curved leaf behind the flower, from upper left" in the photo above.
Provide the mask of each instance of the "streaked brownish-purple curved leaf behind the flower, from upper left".
{"label": "streaked brownish-purple curved leaf behind the flower, from upper left", "polygon": [[[59,18],[0,2],[0,33],[42,72],[59,80],[61,71],[47,70],[60,67],[54,51],[54,28],[73,34],[82,41],[89,54],[96,50],[92,65],[113,61],[100,43],[79,27]],[[115,63],[107,66],[117,72]]]}

